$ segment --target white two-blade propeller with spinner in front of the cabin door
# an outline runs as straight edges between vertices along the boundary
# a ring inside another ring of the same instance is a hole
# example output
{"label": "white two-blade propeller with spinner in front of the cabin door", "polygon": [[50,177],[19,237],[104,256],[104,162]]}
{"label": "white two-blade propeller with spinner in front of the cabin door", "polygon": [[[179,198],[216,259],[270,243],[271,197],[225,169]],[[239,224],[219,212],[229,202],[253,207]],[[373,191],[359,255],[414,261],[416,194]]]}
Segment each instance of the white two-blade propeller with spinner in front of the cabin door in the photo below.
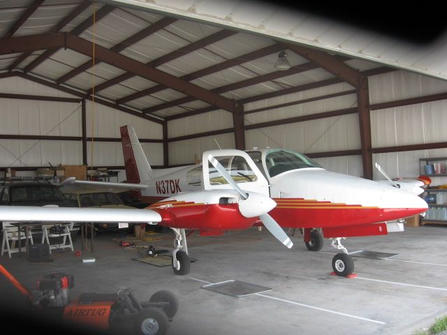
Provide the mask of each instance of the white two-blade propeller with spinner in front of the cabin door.
{"label": "white two-blade propeller with spinner in front of the cabin door", "polygon": [[237,183],[231,178],[227,170],[223,168],[221,163],[217,161],[211,154],[208,155],[208,161],[216,168],[222,177],[230,184],[237,193],[240,194],[241,200],[239,202],[240,213],[246,218],[254,218],[258,216],[267,230],[278,239],[284,246],[291,248],[293,243],[287,234],[282,230],[281,226],[274,221],[274,218],[268,214],[277,203],[270,197],[262,195],[256,192],[245,192],[237,185]]}

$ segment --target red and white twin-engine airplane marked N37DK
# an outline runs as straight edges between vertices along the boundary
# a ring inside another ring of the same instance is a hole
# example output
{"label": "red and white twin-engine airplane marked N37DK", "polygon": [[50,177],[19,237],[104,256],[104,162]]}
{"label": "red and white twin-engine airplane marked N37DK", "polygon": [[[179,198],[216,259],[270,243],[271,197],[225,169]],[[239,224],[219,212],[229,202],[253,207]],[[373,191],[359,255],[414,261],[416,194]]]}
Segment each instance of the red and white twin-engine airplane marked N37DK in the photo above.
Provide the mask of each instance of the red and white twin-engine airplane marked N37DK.
{"label": "red and white twin-engine airplane marked N37DK", "polygon": [[[219,235],[264,225],[291,248],[282,228],[303,228],[311,251],[321,249],[323,237],[332,239],[331,245],[343,251],[332,259],[332,268],[347,276],[353,273],[353,261],[340,243],[342,237],[388,234],[386,221],[427,210],[417,190],[413,194],[396,185],[329,172],[286,149],[205,151],[204,164],[152,170],[133,128],[120,130],[127,182],[145,186],[135,195],[149,204],[146,209],[0,206],[0,221],[163,225],[175,232],[175,274],[188,274],[190,269],[185,230]],[[402,224],[397,227],[403,229]]]}

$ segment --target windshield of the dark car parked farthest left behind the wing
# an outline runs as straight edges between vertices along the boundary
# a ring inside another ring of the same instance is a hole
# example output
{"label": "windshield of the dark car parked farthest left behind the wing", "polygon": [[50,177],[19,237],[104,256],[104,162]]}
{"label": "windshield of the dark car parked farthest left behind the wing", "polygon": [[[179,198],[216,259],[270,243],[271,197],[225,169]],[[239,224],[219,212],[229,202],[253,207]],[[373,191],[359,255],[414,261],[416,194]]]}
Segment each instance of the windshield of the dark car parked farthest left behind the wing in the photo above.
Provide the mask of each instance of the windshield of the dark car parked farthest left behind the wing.
{"label": "windshield of the dark car parked farthest left behind the wing", "polygon": [[23,186],[10,189],[13,202],[60,202],[65,200],[59,188],[54,186]]}

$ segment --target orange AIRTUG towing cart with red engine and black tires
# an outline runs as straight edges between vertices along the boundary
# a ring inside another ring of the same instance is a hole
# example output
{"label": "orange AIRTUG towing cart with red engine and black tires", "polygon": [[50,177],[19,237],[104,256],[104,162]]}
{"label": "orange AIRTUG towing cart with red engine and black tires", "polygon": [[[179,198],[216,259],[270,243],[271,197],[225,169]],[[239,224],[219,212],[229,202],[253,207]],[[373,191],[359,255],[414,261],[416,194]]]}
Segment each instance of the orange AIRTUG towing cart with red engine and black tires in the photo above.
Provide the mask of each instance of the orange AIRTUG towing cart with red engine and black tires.
{"label": "orange AIRTUG towing cart with red engine and black tires", "polygon": [[[70,274],[50,274],[37,282],[37,289],[29,291],[0,265],[3,274],[29,301],[41,311],[57,312],[63,320],[96,329],[126,329],[133,326],[134,334],[164,335],[178,310],[173,292],[160,290],[148,302],[140,302],[130,288],[117,293],[82,293],[70,301],[74,288]],[[124,332],[126,332],[124,330]]]}

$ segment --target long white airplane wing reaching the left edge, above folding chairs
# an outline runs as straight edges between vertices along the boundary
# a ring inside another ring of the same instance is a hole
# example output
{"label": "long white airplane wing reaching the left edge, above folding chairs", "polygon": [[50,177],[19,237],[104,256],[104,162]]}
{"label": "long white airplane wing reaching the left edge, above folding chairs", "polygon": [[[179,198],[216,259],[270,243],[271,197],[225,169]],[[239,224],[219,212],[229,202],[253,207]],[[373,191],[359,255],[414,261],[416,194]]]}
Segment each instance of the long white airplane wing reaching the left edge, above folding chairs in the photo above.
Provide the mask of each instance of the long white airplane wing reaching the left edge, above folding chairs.
{"label": "long white airplane wing reaching the left edge, above folding chairs", "polygon": [[0,221],[155,224],[161,216],[150,209],[0,206]]}

